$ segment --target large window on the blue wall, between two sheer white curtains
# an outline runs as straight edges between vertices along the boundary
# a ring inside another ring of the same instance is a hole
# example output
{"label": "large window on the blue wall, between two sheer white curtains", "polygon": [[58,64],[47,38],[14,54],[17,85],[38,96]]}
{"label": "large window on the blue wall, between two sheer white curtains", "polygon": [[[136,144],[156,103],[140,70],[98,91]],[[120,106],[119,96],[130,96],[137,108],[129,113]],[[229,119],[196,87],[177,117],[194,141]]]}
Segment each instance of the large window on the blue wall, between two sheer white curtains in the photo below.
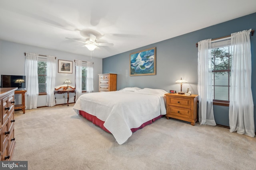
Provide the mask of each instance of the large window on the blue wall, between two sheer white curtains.
{"label": "large window on the blue wall, between two sheer white curtains", "polygon": [[212,43],[211,68],[213,101],[228,103],[230,92],[231,46],[230,40]]}

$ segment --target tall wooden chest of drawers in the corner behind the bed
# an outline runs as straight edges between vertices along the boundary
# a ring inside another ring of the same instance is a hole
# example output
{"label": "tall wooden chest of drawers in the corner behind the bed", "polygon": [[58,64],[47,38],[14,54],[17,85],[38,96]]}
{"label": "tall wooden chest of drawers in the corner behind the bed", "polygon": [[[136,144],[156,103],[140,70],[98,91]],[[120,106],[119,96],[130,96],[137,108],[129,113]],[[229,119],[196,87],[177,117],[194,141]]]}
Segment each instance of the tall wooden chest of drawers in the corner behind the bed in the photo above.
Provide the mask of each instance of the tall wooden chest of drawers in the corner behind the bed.
{"label": "tall wooden chest of drawers in the corner behind the bed", "polygon": [[98,74],[99,75],[99,92],[116,91],[117,74]]}

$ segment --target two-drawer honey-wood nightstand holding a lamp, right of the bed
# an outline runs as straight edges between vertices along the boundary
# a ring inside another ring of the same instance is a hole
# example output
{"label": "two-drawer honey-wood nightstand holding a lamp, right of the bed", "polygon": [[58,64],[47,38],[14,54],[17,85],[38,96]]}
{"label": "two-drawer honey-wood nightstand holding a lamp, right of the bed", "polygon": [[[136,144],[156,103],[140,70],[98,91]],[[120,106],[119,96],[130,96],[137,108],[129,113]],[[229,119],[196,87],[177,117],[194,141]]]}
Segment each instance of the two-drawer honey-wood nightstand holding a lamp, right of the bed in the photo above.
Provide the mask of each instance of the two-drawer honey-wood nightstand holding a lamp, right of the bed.
{"label": "two-drawer honey-wood nightstand holding a lamp, right of the bed", "polygon": [[197,100],[198,95],[192,94],[187,96],[185,94],[171,94],[166,96],[166,118],[169,117],[191,122],[195,125],[197,121]]}

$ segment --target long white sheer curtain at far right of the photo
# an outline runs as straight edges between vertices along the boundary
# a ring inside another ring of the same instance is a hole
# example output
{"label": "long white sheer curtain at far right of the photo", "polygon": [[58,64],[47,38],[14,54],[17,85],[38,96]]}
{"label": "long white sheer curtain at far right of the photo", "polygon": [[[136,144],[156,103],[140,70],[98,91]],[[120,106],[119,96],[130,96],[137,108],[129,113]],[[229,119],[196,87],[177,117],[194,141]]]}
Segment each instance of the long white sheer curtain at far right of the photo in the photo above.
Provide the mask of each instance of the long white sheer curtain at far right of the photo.
{"label": "long white sheer curtain at far right of the photo", "polygon": [[252,100],[250,30],[231,34],[232,68],[230,78],[229,126],[254,137],[254,105]]}

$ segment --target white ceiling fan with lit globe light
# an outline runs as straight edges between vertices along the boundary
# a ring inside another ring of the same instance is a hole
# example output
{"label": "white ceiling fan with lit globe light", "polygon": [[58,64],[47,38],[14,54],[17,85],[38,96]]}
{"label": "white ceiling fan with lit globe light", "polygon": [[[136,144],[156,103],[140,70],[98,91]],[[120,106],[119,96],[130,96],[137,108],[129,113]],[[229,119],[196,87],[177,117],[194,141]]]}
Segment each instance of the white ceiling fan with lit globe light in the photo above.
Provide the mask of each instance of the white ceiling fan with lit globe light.
{"label": "white ceiling fan with lit globe light", "polygon": [[[67,37],[66,37],[66,39],[70,39],[70,40],[73,40],[73,41],[78,41],[78,40],[67,38]],[[112,46],[112,45],[114,45],[113,43],[97,43],[96,42],[96,36],[93,35],[93,34],[90,34],[90,38],[85,39],[85,42],[84,41],[78,41],[78,42],[86,44],[84,46],[87,47],[88,50],[90,50],[90,51],[94,51],[94,49],[98,46]]]}

